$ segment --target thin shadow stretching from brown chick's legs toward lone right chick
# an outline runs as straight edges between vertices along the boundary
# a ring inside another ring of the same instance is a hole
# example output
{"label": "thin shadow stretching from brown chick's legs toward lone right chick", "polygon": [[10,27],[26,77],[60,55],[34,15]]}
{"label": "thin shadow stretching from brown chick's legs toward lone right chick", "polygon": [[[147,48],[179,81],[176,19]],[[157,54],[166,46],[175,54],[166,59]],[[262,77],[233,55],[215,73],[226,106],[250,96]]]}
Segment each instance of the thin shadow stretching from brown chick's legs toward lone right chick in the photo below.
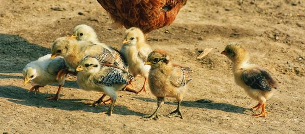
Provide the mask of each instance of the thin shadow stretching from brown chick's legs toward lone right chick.
{"label": "thin shadow stretching from brown chick's legs toward lone right chick", "polygon": [[[155,99],[150,99],[150,98],[142,98],[142,97],[134,97],[135,99],[142,100],[145,102],[156,102]],[[164,104],[169,104],[169,105],[177,105],[177,102],[164,102]],[[182,107],[196,107],[196,108],[206,108],[206,109],[215,109],[215,110],[222,110],[225,112],[232,112],[232,113],[240,113],[240,114],[246,114],[246,110],[251,110],[249,108],[243,108],[239,106],[235,106],[232,104],[227,104],[227,103],[214,103],[210,100],[197,100],[197,101],[182,101],[181,102]]]}

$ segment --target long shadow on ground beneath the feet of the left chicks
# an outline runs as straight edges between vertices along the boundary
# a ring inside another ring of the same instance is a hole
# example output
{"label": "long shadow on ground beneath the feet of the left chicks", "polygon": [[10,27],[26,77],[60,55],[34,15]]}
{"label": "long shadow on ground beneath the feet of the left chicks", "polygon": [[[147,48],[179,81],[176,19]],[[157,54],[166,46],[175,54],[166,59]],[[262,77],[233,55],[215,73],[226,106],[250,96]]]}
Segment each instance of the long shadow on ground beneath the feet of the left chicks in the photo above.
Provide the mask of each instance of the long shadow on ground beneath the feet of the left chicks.
{"label": "long shadow on ground beneath the feet of the left chicks", "polygon": [[[89,106],[81,101],[91,101],[89,99],[60,99],[58,101],[46,101],[45,99],[49,96],[54,96],[53,94],[37,93],[36,95],[32,93],[27,93],[28,90],[13,86],[4,85],[0,86],[0,97],[8,98],[8,101],[34,107],[45,107],[45,108],[57,108],[62,110],[83,110],[86,112],[99,113],[107,111],[109,105],[100,105],[98,107]],[[114,114],[120,115],[138,115],[143,116],[144,114],[135,112],[127,109],[125,106],[115,105]]]}

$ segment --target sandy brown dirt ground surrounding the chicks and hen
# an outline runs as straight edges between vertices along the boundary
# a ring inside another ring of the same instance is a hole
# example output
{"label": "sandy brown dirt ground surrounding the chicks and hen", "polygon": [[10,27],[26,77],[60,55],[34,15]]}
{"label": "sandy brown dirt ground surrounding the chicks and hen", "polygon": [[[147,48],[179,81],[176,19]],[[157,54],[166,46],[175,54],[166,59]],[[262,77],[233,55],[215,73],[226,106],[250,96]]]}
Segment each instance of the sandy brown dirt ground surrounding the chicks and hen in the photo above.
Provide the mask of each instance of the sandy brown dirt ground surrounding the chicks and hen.
{"label": "sandy brown dirt ground surrounding the chicks and hen", "polygon": [[[46,101],[56,85],[34,95],[23,85],[22,68],[50,53],[52,41],[71,35],[78,24],[94,27],[102,42],[120,49],[125,29],[111,20],[97,1],[1,1],[0,132],[8,133],[305,133],[305,2],[290,0],[189,0],[174,23],[151,32],[154,49],[194,70],[182,101],[185,119],[168,118],[176,101],[167,98],[160,120],[145,121],[156,98],[150,93],[118,92],[112,116],[99,115],[109,105],[91,107],[101,96],[80,90],[69,76],[58,101]],[[59,11],[58,11],[59,10]],[[79,12],[82,15],[79,15]],[[165,32],[168,30],[169,32]],[[220,52],[228,42],[245,45],[251,62],[279,81],[267,101],[267,117],[255,118],[257,104],[237,86],[231,62]],[[214,48],[202,60],[196,57]],[[136,89],[143,82],[137,77]],[[147,85],[148,86],[148,85]]]}

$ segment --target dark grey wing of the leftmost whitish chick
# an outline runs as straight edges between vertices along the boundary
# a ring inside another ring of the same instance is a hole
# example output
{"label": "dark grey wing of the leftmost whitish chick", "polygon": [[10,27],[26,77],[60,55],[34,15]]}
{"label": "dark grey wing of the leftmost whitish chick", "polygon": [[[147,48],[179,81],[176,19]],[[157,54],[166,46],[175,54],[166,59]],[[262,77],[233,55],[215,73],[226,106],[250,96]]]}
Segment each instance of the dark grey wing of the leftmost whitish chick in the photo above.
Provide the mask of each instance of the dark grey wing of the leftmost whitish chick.
{"label": "dark grey wing of the leftmost whitish chick", "polygon": [[57,75],[57,73],[62,70],[67,68],[65,64],[65,60],[62,57],[55,57],[54,59],[51,60],[47,67],[48,73],[52,75]]}

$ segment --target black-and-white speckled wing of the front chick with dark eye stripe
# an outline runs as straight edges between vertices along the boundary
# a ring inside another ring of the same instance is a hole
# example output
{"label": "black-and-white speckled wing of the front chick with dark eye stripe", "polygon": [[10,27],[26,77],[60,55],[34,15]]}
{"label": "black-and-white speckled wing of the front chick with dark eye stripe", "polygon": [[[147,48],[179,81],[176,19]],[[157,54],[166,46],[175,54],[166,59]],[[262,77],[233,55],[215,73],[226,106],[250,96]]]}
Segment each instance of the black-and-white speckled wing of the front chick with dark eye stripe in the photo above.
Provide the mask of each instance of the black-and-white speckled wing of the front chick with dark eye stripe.
{"label": "black-and-white speckled wing of the front chick with dark eye stripe", "polygon": [[106,86],[112,86],[114,84],[128,84],[128,81],[133,78],[134,77],[126,71],[110,67],[108,74],[100,77],[95,82]]}

